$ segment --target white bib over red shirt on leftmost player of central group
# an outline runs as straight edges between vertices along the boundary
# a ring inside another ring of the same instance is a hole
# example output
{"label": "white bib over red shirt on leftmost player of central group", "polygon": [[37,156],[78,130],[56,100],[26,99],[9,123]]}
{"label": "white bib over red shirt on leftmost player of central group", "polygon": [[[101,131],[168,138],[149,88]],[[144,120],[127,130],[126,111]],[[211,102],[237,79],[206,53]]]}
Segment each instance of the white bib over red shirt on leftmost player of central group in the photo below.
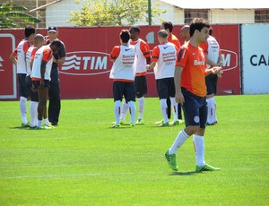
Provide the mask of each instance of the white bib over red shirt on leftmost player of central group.
{"label": "white bib over red shirt on leftmost player of central group", "polygon": [[109,56],[114,60],[109,78],[114,81],[134,82],[135,49],[133,46],[113,47]]}

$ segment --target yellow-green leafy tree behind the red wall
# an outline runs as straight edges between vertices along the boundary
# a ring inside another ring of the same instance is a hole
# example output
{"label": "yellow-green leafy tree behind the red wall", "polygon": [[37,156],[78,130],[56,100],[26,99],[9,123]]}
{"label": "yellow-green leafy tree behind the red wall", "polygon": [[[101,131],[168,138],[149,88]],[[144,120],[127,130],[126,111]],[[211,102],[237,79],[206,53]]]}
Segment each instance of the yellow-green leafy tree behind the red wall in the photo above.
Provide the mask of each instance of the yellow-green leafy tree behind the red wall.
{"label": "yellow-green leafy tree behind the red wall", "polygon": [[[80,4],[79,0],[75,1]],[[152,8],[152,17],[165,10]],[[145,0],[83,0],[82,12],[70,13],[69,22],[78,26],[122,26],[134,25],[148,20],[148,1]]]}

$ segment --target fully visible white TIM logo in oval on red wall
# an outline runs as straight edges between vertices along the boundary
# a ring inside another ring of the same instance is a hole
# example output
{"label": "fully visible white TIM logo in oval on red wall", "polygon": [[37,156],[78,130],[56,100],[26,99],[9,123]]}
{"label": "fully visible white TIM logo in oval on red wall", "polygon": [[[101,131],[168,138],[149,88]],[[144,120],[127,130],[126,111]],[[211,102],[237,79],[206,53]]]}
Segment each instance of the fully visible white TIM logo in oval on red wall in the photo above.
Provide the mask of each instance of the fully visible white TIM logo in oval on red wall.
{"label": "fully visible white TIM logo in oval on red wall", "polygon": [[60,73],[69,75],[98,75],[109,73],[112,63],[109,54],[96,51],[69,52],[65,57]]}

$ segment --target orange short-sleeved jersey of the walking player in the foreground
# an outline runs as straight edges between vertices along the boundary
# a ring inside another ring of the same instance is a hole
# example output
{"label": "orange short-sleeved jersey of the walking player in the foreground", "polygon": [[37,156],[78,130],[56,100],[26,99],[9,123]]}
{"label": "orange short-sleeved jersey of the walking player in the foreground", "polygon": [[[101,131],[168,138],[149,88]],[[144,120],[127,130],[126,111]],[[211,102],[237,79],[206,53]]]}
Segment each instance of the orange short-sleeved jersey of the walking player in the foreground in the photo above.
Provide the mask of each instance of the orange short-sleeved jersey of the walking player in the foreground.
{"label": "orange short-sleeved jersey of the walking player in the foreground", "polygon": [[177,65],[183,67],[181,73],[181,87],[199,97],[206,96],[205,86],[205,58],[201,47],[194,47],[189,42],[178,52]]}

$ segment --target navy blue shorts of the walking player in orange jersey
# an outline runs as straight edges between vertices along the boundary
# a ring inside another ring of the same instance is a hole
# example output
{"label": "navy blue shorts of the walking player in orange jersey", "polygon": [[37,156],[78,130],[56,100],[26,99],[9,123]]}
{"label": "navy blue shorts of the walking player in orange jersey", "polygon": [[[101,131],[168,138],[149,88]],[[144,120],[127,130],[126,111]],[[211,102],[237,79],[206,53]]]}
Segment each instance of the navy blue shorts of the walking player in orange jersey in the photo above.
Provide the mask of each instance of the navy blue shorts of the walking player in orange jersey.
{"label": "navy blue shorts of the walking player in orange jersey", "polygon": [[181,88],[185,103],[182,105],[186,126],[205,128],[207,119],[206,97],[198,97],[189,90]]}

